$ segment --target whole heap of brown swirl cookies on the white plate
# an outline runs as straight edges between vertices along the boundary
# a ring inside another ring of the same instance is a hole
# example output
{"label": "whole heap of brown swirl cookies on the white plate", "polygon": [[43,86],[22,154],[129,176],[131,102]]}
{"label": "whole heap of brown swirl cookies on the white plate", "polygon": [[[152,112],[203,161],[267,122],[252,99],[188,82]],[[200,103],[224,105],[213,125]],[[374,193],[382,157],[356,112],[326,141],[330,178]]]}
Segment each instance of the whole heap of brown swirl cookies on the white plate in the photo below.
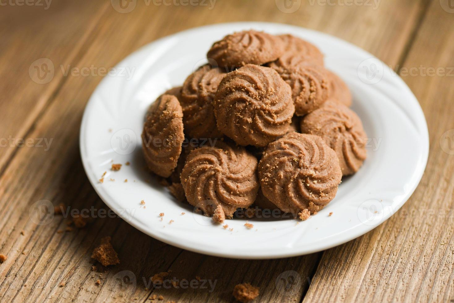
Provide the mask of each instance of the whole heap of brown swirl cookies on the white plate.
{"label": "whole heap of brown swirl cookies on the white plate", "polygon": [[366,158],[348,87],[316,46],[290,34],[229,34],[207,58],[148,109],[148,168],[218,222],[254,203],[316,214]]}

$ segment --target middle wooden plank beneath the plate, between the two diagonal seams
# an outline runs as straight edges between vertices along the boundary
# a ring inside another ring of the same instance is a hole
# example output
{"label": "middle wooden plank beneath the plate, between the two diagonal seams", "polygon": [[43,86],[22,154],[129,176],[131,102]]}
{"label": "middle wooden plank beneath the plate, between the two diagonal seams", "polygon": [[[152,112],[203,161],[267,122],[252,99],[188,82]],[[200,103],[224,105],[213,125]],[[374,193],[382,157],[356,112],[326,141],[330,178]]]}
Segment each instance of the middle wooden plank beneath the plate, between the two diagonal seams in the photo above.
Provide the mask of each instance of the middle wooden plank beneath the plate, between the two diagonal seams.
{"label": "middle wooden plank beneath the plate, between the two diagonal seams", "polygon": [[[398,63],[419,18],[420,3],[410,0],[399,5],[383,2],[377,10],[369,10],[362,6],[346,8],[304,3],[295,13],[287,14],[276,9],[274,1],[223,1],[217,2],[212,10],[201,6],[143,7],[138,1],[136,9],[127,14],[120,14],[110,7],[105,9],[96,31],[92,31],[88,42],[81,47],[84,51],[78,53],[75,66],[111,67],[143,44],[181,29],[264,18],[336,34],[365,49],[375,50],[374,53],[387,63]],[[250,14],[251,11],[254,14]],[[73,12],[76,14],[79,10]],[[345,30],[345,25],[342,26],[345,20],[363,26]],[[396,26],[402,30],[395,31]],[[79,129],[86,100],[100,78],[65,78],[45,95],[43,104],[46,105],[42,107],[39,119],[36,115],[26,118],[29,126],[33,126],[25,131],[28,137],[54,138],[54,141],[45,152],[33,147],[18,149],[0,176],[0,253],[8,255],[8,260],[0,265],[1,298],[7,301],[27,298],[130,301],[134,298],[145,300],[153,293],[172,300],[218,302],[232,299],[231,291],[236,283],[251,282],[261,287],[261,301],[300,300],[306,291],[305,281],[311,277],[320,254],[281,260],[237,261],[173,248],[150,239],[118,218],[95,218],[85,229],[61,234],[57,231],[66,226],[66,220],[62,218],[56,217],[42,226],[30,221],[30,206],[42,199],[79,210],[91,205],[105,208],[84,177],[78,132],[75,131]],[[25,95],[28,90],[24,89]],[[15,121],[23,119],[23,116],[13,117],[16,117]],[[99,273],[91,271],[94,261],[90,255],[104,235],[112,235],[122,261],[120,265],[106,269],[100,277]],[[187,294],[175,289],[145,289],[140,281],[143,277],[168,269],[181,279],[193,279],[196,275],[217,279],[215,295],[201,289]],[[135,287],[117,289],[118,276],[115,275],[124,270],[133,273]],[[288,293],[273,287],[279,275],[287,270],[295,270],[301,277],[297,287],[291,288],[291,298]],[[101,280],[100,285],[96,285],[96,279]],[[62,282],[65,285],[59,287]]]}

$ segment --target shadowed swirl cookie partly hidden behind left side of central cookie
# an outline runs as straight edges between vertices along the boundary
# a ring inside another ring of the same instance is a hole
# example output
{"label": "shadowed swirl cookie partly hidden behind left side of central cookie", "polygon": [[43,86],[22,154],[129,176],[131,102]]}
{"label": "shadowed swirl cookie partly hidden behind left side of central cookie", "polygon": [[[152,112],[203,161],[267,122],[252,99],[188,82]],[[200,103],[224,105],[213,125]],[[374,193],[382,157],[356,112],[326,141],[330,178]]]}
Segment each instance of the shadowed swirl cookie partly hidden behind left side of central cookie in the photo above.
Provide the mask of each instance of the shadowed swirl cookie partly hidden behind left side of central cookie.
{"label": "shadowed swirl cookie partly hidden behind left side of central cookie", "polygon": [[203,65],[184,81],[180,103],[183,108],[183,124],[190,138],[218,138],[213,113],[213,98],[226,73],[221,68]]}

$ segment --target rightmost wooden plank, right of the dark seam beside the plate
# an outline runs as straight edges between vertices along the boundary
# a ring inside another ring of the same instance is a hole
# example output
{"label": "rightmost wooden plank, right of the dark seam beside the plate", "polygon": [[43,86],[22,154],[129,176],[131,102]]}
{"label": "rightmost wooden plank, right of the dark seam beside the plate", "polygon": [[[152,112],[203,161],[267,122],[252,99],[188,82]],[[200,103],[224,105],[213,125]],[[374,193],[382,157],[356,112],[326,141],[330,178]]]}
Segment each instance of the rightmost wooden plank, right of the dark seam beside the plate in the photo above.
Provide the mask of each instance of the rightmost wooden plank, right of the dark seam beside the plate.
{"label": "rightmost wooden plank, right of the dark seam beside the plate", "polygon": [[[419,187],[384,224],[323,254],[305,302],[453,301],[454,157],[445,141],[454,133],[453,30],[453,15],[433,1],[400,67],[403,74],[413,68],[414,76],[403,78],[429,126],[429,162]],[[439,74],[430,76],[428,68]]]}

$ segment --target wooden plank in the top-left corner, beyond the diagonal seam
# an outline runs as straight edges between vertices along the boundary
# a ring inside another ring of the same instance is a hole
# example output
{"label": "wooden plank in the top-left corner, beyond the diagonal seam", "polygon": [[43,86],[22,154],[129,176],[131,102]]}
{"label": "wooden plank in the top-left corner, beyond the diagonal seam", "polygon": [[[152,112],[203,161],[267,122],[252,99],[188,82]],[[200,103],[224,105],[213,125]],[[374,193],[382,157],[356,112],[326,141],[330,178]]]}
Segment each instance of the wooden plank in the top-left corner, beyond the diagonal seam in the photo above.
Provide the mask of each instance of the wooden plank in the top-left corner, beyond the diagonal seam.
{"label": "wooden plank in the top-left corner, beyond the diagonal seam", "polygon": [[[15,140],[27,139],[52,94],[66,80],[59,65],[77,64],[91,43],[97,22],[109,8],[106,3],[88,0],[47,4],[43,0],[21,6],[9,5],[15,1],[4,3],[0,14],[0,65],[4,67],[0,69],[0,172],[17,149]],[[53,76],[41,70],[40,79],[34,67],[41,64],[53,70]]]}

